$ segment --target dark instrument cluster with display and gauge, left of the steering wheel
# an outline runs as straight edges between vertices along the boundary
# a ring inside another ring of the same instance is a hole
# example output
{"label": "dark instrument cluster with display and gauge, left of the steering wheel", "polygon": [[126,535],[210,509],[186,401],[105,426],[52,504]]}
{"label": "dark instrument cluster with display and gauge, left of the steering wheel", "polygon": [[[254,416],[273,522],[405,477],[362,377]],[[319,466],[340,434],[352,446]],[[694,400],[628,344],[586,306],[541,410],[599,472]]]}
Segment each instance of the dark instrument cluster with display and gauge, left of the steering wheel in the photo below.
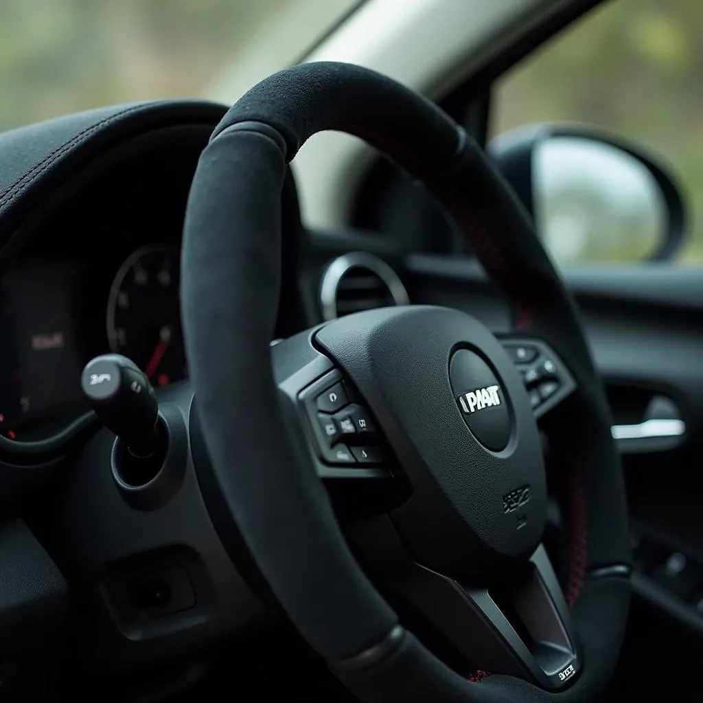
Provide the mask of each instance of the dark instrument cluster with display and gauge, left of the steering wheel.
{"label": "dark instrument cluster with display and gauge, left of the steering wheel", "polygon": [[80,374],[98,354],[128,356],[155,387],[188,375],[178,243],[108,253],[30,251],[0,281],[4,437],[46,439],[86,413]]}

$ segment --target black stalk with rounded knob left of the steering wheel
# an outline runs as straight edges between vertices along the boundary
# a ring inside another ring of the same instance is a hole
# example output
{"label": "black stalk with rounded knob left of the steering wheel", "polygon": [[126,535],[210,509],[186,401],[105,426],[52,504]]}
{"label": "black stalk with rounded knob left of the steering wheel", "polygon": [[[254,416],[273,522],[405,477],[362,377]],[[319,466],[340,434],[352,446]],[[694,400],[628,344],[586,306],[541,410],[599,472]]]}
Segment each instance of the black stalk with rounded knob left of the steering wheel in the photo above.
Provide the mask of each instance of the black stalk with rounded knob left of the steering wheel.
{"label": "black stalk with rounded knob left of the steering wheel", "polygon": [[81,387],[103,425],[112,430],[137,458],[157,451],[159,403],[146,374],[120,354],[89,361]]}

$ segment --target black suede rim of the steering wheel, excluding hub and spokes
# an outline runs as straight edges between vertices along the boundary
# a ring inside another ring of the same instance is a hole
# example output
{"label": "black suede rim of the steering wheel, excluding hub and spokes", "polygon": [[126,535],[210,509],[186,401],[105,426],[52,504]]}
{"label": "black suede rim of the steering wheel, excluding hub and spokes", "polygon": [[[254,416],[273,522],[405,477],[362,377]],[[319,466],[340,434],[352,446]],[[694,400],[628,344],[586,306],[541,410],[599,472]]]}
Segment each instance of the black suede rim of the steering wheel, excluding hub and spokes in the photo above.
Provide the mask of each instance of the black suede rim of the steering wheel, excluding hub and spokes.
{"label": "black suede rim of the steering wheel, excluding hub and spokes", "polygon": [[[405,631],[354,560],[285,423],[269,347],[282,266],[280,194],[288,162],[327,129],[365,139],[423,181],[508,299],[517,333],[551,344],[576,382],[553,438],[566,496],[565,595],[583,651],[568,688],[550,692],[500,675],[472,683]],[[219,490],[276,598],[349,689],[366,701],[438,703],[577,701],[602,689],[624,635],[630,563],[605,392],[534,226],[463,130],[417,93],[361,67],[279,72],[214,130],[193,179],[182,257],[188,363]],[[271,441],[272,424],[287,428],[281,441]]]}

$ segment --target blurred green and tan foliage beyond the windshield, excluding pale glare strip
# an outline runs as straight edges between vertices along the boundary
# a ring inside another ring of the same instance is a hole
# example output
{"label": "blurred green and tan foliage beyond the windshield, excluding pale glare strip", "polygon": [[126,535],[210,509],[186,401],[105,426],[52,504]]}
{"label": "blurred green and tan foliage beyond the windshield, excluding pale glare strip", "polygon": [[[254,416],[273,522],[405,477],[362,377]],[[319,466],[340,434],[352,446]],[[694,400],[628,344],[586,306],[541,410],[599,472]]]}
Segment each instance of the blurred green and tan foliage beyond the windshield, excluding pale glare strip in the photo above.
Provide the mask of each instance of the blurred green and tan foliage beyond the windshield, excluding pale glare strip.
{"label": "blurred green and tan foliage beyond the windshield, excluding pale glare strip", "polygon": [[197,95],[290,0],[3,0],[0,129]]}

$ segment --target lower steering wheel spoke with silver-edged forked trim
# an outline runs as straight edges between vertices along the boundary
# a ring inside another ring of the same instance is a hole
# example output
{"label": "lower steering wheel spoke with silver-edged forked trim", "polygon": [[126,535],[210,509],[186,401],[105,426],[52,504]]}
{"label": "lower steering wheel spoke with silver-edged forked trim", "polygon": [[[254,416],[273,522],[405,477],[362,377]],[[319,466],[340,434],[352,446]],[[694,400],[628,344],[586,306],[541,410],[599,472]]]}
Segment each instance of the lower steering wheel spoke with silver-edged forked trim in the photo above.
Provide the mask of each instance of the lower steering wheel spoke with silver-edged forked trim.
{"label": "lower steering wheel spoke with silver-edged forked trim", "polygon": [[579,641],[544,546],[509,576],[469,586],[415,562],[387,516],[357,525],[350,539],[386,590],[437,633],[437,647],[458,655],[454,666],[467,676],[506,674],[546,690],[578,677]]}

